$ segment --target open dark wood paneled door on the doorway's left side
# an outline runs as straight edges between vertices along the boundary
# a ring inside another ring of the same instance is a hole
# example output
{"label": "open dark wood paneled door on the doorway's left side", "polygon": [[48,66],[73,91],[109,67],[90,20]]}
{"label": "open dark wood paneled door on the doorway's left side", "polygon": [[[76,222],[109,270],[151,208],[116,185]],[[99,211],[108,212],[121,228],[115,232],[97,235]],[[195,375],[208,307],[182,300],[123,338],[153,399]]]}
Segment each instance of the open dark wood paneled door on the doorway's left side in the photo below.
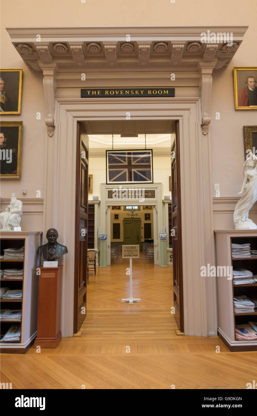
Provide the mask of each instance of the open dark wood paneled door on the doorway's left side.
{"label": "open dark wood paneled door on the doorway's left side", "polygon": [[86,317],[86,274],[88,252],[88,136],[77,124],[76,225],[74,329],[76,334]]}

